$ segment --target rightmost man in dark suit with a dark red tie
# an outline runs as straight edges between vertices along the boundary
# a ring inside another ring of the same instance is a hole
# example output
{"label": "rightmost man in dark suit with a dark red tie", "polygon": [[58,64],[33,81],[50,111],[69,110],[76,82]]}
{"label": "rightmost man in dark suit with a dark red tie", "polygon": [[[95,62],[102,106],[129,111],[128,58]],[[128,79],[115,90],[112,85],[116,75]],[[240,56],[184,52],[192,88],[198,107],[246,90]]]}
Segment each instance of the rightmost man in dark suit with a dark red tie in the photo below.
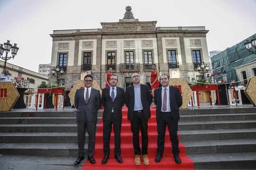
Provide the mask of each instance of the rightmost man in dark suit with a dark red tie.
{"label": "rightmost man in dark suit with a dark red tie", "polygon": [[162,87],[154,91],[154,101],[156,104],[156,121],[157,121],[157,155],[155,162],[160,162],[164,153],[164,141],[166,125],[169,129],[170,140],[172,144],[172,153],[175,162],[181,164],[178,156],[180,149],[178,148],[178,120],[180,119],[179,107],[182,105],[182,97],[177,87],[169,85],[168,75],[162,74],[160,77]]}

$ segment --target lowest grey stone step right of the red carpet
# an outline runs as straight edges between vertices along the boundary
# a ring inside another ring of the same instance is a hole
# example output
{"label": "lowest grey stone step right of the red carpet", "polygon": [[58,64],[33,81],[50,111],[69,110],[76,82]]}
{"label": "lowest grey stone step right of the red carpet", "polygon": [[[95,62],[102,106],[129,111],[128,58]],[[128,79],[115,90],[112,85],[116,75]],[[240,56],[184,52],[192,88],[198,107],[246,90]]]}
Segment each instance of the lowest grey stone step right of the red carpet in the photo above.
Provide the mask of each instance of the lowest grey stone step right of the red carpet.
{"label": "lowest grey stone step right of the red carpet", "polygon": [[255,169],[256,152],[189,154],[195,169]]}

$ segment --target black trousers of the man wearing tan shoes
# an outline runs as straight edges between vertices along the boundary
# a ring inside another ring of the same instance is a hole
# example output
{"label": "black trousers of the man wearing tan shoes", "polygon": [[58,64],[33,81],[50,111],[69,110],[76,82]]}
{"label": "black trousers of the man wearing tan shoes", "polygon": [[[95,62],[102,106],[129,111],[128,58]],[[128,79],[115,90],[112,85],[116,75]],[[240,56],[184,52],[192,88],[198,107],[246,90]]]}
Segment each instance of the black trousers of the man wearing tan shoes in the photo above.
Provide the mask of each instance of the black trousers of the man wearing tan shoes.
{"label": "black trousers of the man wearing tan shoes", "polygon": [[[133,113],[131,129],[133,133],[134,154],[148,154],[148,120],[145,118],[143,111]],[[142,135],[142,151],[140,150],[139,145],[139,130]]]}

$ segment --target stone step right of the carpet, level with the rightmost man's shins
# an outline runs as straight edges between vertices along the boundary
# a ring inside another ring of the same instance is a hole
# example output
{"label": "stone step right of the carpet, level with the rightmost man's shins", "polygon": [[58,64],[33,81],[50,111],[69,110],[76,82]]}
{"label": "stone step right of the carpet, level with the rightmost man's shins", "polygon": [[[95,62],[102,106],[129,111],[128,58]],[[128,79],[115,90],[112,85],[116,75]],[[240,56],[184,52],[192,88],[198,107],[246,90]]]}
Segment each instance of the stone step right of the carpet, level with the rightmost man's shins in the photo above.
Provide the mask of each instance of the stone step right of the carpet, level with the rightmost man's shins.
{"label": "stone step right of the carpet, level with the rightmost man's shins", "polygon": [[256,139],[184,141],[187,154],[256,152]]}

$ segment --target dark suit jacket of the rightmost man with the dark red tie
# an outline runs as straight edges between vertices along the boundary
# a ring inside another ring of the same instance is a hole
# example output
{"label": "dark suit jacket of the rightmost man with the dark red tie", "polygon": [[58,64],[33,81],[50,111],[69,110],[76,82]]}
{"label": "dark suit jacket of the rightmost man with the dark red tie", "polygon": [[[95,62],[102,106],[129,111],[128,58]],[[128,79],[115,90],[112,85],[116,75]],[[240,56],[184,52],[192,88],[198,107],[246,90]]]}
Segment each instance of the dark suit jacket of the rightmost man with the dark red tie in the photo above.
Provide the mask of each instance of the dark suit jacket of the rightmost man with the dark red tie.
{"label": "dark suit jacket of the rightmost man with the dark red tie", "polygon": [[[179,107],[182,105],[182,97],[177,87],[169,87],[171,116],[174,121],[178,121],[180,119]],[[154,101],[156,104],[156,121],[158,121],[162,109],[162,87],[154,91]]]}

